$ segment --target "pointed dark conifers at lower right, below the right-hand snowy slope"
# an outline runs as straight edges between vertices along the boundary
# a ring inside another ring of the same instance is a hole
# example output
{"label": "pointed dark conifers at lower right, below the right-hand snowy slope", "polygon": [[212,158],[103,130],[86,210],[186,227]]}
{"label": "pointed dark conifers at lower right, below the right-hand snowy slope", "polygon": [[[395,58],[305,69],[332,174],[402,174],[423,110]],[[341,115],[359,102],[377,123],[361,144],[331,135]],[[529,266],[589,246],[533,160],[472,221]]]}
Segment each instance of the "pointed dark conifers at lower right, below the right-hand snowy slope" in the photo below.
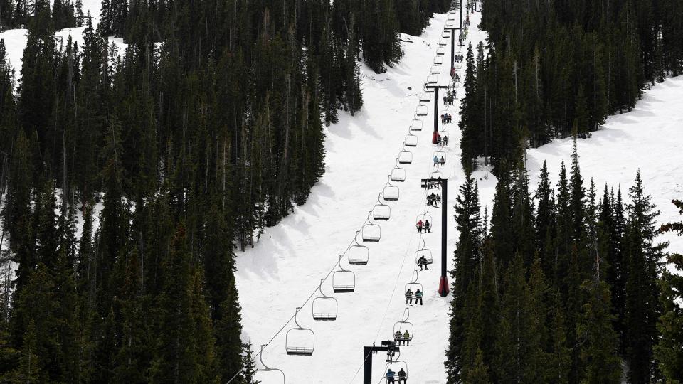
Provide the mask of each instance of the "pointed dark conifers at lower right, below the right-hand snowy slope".
{"label": "pointed dark conifers at lower right, below the right-hand snowy slope", "polygon": [[628,191],[583,182],[576,146],[556,186],[502,162],[490,226],[460,187],[448,383],[679,383],[683,265],[655,235],[682,223],[656,227],[640,171]]}

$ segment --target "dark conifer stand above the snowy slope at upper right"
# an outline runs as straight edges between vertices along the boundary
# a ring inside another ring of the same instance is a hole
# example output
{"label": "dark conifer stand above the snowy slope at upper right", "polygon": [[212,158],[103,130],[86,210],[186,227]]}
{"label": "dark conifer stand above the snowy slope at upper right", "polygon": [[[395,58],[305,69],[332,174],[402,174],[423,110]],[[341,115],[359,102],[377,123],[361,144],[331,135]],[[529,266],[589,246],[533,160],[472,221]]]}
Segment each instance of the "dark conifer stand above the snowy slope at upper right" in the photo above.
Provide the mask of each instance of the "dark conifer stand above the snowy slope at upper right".
{"label": "dark conifer stand above the snowy slope at upper right", "polygon": [[642,90],[683,73],[680,0],[483,0],[487,46],[467,50],[462,165],[587,137]]}

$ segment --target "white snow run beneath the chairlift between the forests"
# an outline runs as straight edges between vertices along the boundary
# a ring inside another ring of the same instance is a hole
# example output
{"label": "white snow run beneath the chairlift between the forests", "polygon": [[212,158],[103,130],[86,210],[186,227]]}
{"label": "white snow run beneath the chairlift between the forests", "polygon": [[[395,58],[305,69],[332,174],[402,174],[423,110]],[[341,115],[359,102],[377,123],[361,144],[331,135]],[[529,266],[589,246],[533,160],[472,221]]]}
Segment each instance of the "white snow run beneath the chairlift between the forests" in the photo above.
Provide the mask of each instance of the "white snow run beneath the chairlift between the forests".
{"label": "white snow run beneath the chairlift between the forests", "polygon": [[[485,37],[476,30],[479,16],[471,16],[468,39],[472,46]],[[313,188],[309,201],[274,228],[266,229],[254,249],[238,256],[237,283],[243,307],[244,338],[253,343],[255,351],[261,343],[270,340],[295,313],[295,307],[317,288],[319,279],[332,269],[374,207],[408,134],[419,94],[437,56],[446,18],[445,14],[435,15],[420,37],[403,35],[405,56],[396,68],[389,68],[381,75],[362,68],[363,110],[354,117],[341,113],[339,123],[327,129],[327,169]],[[444,48],[446,54],[439,56],[443,58],[438,75],[440,85],[450,83],[450,39],[449,46]],[[462,54],[465,55],[465,50]],[[464,71],[463,65],[459,71],[462,78]],[[440,98],[444,92],[440,92]],[[461,93],[462,87],[458,96]],[[463,178],[458,149],[460,134],[455,124],[458,102],[459,99],[450,107],[453,124],[447,128],[451,144],[444,149],[447,161],[440,170],[450,179],[449,270],[457,239],[452,205]],[[342,260],[342,266],[356,274],[356,291],[332,294],[332,279],[324,282],[325,294],[339,301],[336,321],[314,321],[312,300],[302,307],[297,318],[299,324],[315,332],[312,356],[285,354],[285,333],[295,326],[293,321],[263,352],[264,363],[284,370],[287,383],[361,383],[363,346],[374,342],[379,346],[382,340],[391,339],[394,323],[403,316],[404,287],[415,270],[413,254],[419,241],[415,218],[425,207],[420,178],[428,177],[432,171],[435,151],[430,142],[433,101],[423,104],[428,105],[429,112],[420,117],[423,130],[413,132],[418,136],[418,146],[409,149],[413,152],[413,164],[402,165],[407,172],[406,181],[394,183],[401,189],[401,196],[398,201],[386,202],[391,206],[390,220],[376,222],[381,225],[381,240],[364,243],[370,248],[367,265],[349,266],[346,258]],[[439,100],[438,105],[443,112],[443,101]],[[437,293],[441,211],[430,208],[429,213],[433,216],[430,220],[433,231],[425,235],[425,242],[433,253],[434,264],[419,274],[418,282],[425,291],[424,305],[410,309],[414,338],[410,346],[401,347],[401,360],[408,365],[411,383],[445,382],[443,361],[448,342],[450,297],[442,298]],[[383,382],[386,353],[378,353],[373,358],[373,382]],[[260,373],[258,380],[264,384],[278,382],[275,373]]]}

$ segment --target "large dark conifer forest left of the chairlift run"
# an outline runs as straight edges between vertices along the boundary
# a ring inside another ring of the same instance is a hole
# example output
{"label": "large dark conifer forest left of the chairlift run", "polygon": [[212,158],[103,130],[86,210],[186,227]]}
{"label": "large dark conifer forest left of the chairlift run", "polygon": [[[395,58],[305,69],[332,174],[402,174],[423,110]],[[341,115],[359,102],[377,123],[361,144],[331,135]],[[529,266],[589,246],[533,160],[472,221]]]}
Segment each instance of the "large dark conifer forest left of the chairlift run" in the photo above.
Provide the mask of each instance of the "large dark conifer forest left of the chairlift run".
{"label": "large dark conifer forest left of the chairlift run", "polygon": [[[238,373],[233,250],[306,201],[359,60],[395,65],[449,3],[103,0],[93,26],[80,1],[1,0],[28,43],[14,71],[0,41],[0,380]],[[71,26],[83,44],[55,40]]]}

